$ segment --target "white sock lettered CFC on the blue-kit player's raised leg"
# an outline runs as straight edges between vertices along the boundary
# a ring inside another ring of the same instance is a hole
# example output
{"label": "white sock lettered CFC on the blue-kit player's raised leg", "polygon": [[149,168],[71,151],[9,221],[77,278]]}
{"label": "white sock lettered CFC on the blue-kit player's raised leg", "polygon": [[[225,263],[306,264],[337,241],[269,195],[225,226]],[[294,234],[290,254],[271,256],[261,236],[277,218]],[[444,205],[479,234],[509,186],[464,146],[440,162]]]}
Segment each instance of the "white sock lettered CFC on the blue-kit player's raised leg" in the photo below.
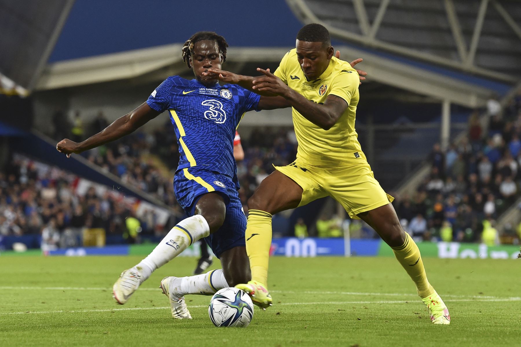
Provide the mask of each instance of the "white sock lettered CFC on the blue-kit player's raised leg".
{"label": "white sock lettered CFC on the blue-kit player's raised leg", "polygon": [[179,222],[170,229],[170,232],[159,242],[159,245],[135,266],[141,274],[141,283],[150,277],[156,268],[165,265],[192,243],[208,235],[210,235],[210,227],[200,214]]}

